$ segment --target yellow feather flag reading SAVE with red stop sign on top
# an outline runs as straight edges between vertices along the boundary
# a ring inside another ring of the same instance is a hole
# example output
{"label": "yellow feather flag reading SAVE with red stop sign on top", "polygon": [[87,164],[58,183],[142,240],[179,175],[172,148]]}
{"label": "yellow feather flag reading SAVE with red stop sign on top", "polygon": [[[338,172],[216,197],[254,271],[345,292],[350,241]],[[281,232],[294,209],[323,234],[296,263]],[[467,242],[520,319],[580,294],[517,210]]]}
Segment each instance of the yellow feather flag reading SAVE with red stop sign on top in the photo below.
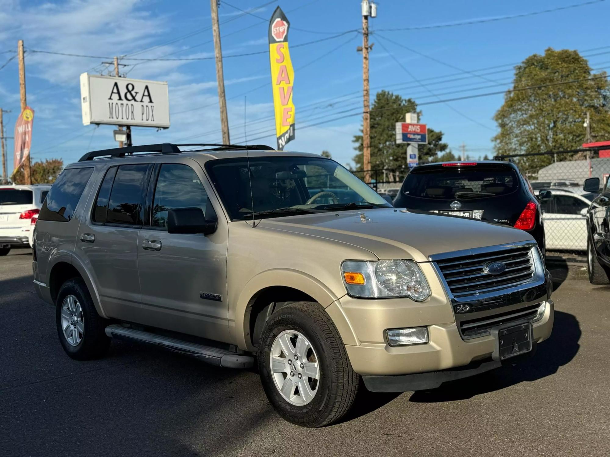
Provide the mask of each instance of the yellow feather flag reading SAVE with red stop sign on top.
{"label": "yellow feather flag reading SAVE with red stop sign on top", "polygon": [[292,102],[292,85],[295,71],[288,50],[290,23],[278,6],[269,21],[269,58],[271,62],[271,87],[275,112],[275,132],[278,151],[295,139],[295,105]]}

